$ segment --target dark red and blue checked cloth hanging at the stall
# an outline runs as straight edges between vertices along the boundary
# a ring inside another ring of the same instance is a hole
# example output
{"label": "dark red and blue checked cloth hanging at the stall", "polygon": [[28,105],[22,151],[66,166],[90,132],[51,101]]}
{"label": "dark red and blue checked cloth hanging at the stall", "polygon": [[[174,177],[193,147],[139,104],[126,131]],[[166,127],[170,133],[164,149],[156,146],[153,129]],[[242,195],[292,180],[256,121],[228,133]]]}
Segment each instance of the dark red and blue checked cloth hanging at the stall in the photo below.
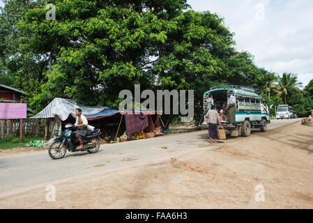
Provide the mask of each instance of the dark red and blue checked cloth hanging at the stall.
{"label": "dark red and blue checked cloth hanging at the stall", "polygon": [[132,134],[148,127],[147,114],[125,114],[126,133]]}

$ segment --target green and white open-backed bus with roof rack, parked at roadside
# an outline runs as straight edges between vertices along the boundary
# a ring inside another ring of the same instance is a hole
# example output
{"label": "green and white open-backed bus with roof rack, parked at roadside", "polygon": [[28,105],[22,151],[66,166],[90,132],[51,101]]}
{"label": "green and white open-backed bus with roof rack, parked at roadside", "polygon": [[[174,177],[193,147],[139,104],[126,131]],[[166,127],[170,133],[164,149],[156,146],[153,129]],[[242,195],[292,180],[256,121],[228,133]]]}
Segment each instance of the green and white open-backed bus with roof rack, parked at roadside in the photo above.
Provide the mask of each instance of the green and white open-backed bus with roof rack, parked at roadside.
{"label": "green and white open-backed bus with roof rack, parked at roadside", "polygon": [[[206,91],[203,96],[204,114],[202,118],[208,112],[208,103],[206,102],[208,95],[213,95],[214,105],[219,110],[223,104],[227,105],[227,91],[230,91],[236,98],[236,123],[231,125],[227,121],[221,121],[222,127],[229,130],[233,137],[248,137],[252,128],[259,128],[261,132],[266,132],[268,123],[270,123],[270,114],[269,111],[266,113],[261,109],[264,99],[260,95],[259,89],[246,86],[222,85]],[[208,128],[208,126],[199,125],[199,128]]]}

